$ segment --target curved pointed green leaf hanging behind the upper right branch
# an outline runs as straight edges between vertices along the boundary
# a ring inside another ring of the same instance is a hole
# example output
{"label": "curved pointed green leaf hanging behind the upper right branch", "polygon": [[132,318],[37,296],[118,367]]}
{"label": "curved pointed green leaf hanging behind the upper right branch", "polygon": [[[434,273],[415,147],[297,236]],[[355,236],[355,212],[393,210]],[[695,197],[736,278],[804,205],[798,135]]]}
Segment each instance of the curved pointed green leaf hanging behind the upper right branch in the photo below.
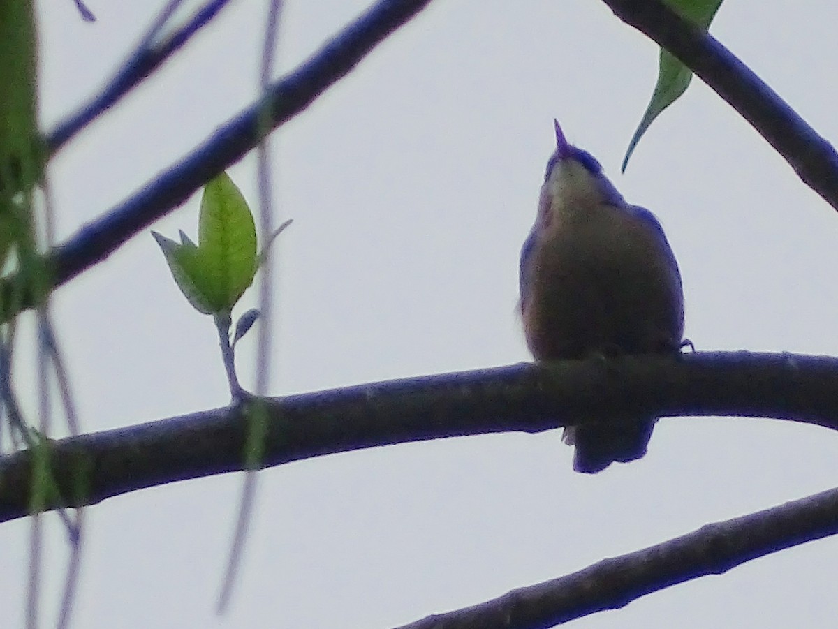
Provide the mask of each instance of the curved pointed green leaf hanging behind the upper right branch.
{"label": "curved pointed green leaf hanging behind the upper right branch", "polygon": [[[682,18],[689,20],[701,28],[708,28],[713,18],[716,16],[722,0],[665,0],[665,3],[670,6]],[[629,158],[637,147],[640,138],[655,118],[660,115],[675,100],[682,95],[687,86],[692,80],[692,71],[682,64],[674,55],[670,54],[665,49],[660,49],[660,62],[658,65],[658,82],[654,86],[652,99],[649,101],[649,106],[637,130],[634,131],[629,142],[629,148],[626,150],[626,155],[623,157],[622,170],[625,172],[629,165]]]}

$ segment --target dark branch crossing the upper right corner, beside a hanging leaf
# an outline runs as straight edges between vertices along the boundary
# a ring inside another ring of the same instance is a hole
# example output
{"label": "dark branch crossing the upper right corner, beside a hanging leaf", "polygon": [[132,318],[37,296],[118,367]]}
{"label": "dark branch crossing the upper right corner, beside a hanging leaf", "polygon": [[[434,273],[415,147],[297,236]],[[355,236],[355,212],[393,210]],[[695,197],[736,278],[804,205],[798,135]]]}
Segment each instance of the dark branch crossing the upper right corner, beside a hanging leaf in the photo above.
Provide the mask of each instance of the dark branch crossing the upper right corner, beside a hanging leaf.
{"label": "dark branch crossing the upper right corner, beside a hanging leaf", "polygon": [[623,22],[669,50],[727,101],[838,209],[838,153],[747,65],[660,0],[603,0]]}

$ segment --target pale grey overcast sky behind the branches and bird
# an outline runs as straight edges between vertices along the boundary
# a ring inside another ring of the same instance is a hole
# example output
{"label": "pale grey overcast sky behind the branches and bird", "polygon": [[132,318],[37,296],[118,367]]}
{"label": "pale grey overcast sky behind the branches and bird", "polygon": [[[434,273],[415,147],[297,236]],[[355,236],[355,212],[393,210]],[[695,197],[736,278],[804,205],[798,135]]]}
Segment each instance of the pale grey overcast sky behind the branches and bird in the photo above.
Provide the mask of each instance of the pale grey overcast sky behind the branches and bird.
{"label": "pale grey overcast sky behind the branches and bird", "polygon": [[[43,125],[95,94],[162,2],[39,2]],[[59,238],[134,193],[256,95],[265,8],[231,3],[158,77],[51,165]],[[366,8],[287,2],[289,70]],[[838,75],[832,3],[726,3],[712,31],[827,138]],[[660,218],[699,350],[838,353],[838,215],[696,80],[623,152],[657,48],[597,0],[437,0],[273,134],[272,394],[528,360],[518,255],[557,117],[624,196]],[[231,170],[256,203],[255,161]],[[194,236],[198,204],[155,224]],[[256,292],[256,291],[252,291]],[[251,307],[255,294],[242,302]],[[55,293],[85,431],[224,405],[215,330],[151,235]],[[241,343],[254,385],[255,338]],[[561,431],[356,451],[261,473],[246,559],[215,616],[241,476],[87,510],[78,627],[387,627],[470,606],[703,523],[833,487],[838,435],[773,420],[662,420],[649,454],[589,477]],[[44,599],[65,571],[56,518]],[[0,525],[0,601],[20,626],[28,523]],[[581,627],[832,626],[838,540],[805,544],[588,616]],[[677,621],[674,621],[677,619]],[[49,623],[47,624],[49,626]]]}

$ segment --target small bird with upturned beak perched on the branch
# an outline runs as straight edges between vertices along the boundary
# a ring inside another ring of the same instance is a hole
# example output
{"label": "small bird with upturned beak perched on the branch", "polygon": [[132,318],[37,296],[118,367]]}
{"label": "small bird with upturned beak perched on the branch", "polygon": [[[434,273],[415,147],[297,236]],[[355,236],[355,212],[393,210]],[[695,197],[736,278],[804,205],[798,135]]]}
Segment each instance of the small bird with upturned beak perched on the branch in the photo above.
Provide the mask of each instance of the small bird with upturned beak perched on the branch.
{"label": "small bird with upturned beak perched on the branch", "polygon": [[[536,363],[680,353],[684,291],[675,254],[648,209],[626,203],[557,120],[535,223],[520,254],[520,314]],[[595,473],[644,456],[656,418],[565,428],[573,469]]]}

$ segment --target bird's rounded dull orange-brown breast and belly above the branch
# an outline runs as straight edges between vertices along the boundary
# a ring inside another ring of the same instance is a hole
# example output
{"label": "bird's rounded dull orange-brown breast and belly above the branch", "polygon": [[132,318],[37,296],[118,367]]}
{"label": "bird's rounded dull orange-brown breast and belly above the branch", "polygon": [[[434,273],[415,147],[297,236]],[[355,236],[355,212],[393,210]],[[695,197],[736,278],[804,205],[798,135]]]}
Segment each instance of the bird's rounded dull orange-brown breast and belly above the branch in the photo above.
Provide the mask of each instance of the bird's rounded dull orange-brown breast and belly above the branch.
{"label": "bird's rounded dull orange-brown breast and belly above the branch", "polygon": [[624,209],[556,214],[535,235],[528,266],[521,309],[535,358],[646,353],[680,341],[669,245]]}

